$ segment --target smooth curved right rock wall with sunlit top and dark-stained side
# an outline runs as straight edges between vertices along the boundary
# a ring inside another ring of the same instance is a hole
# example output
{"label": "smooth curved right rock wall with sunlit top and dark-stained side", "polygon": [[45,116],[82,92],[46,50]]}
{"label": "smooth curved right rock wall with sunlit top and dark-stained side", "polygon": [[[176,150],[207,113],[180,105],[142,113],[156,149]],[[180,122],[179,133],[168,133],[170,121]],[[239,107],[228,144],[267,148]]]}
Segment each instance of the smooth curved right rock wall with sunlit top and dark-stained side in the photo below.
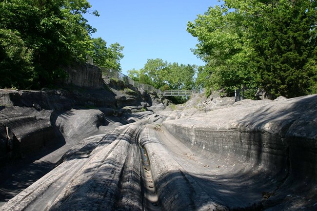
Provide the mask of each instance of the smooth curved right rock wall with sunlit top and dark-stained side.
{"label": "smooth curved right rock wall with sunlit top and dark-stained side", "polygon": [[[237,105],[198,117],[165,121],[163,127],[196,152],[223,157],[226,168],[248,163],[247,169],[274,176],[279,185],[263,206],[278,203],[276,209],[284,210],[291,207],[290,200],[298,201],[295,192],[317,194],[316,105],[317,95],[264,105]],[[289,193],[288,199],[281,200],[285,192]],[[316,209],[316,199],[305,197],[301,203],[310,208],[302,209]],[[314,203],[308,203],[310,200]]]}

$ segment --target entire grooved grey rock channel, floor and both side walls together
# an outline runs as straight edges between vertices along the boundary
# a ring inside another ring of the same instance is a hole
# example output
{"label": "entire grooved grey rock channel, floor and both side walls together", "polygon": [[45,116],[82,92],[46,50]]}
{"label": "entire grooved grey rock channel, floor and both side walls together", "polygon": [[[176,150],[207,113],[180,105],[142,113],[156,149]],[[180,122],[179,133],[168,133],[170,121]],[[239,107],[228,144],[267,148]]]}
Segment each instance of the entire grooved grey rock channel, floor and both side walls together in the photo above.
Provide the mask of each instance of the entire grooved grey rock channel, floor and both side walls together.
{"label": "entire grooved grey rock channel, floor and both side walls together", "polygon": [[0,210],[317,210],[317,95],[135,113],[65,95],[1,91]]}

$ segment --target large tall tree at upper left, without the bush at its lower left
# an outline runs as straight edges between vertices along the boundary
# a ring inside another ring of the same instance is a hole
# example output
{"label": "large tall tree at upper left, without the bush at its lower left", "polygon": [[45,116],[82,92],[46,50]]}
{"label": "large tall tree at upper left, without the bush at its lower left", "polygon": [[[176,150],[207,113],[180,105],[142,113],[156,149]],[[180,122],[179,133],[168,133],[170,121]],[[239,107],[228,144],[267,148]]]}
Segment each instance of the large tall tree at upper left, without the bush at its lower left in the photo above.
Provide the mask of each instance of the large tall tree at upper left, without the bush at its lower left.
{"label": "large tall tree at upper left, without the bush at its lower left", "polygon": [[[65,77],[61,66],[72,61],[85,61],[89,46],[92,45],[90,35],[95,29],[87,23],[82,14],[90,7],[87,0],[0,2],[0,29],[14,32],[22,40],[25,48],[32,51],[30,62],[34,68],[32,74],[25,74],[32,76],[33,88],[50,85]],[[92,13],[98,15],[96,11]],[[10,66],[8,62],[12,60],[5,61],[7,67]],[[17,78],[12,76],[12,81],[14,80]],[[26,84],[20,81],[18,83],[21,85],[20,88],[27,88]]]}

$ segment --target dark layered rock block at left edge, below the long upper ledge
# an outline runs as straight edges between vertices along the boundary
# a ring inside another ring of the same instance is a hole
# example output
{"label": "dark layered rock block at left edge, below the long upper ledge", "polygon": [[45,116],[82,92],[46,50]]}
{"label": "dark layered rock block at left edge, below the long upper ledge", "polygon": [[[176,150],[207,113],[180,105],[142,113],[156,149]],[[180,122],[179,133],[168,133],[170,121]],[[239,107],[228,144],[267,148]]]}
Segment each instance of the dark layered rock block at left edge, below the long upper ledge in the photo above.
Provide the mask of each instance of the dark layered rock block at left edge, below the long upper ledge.
{"label": "dark layered rock block at left edge, below the long upper ledge", "polygon": [[12,106],[0,111],[1,164],[39,151],[56,141],[51,111]]}

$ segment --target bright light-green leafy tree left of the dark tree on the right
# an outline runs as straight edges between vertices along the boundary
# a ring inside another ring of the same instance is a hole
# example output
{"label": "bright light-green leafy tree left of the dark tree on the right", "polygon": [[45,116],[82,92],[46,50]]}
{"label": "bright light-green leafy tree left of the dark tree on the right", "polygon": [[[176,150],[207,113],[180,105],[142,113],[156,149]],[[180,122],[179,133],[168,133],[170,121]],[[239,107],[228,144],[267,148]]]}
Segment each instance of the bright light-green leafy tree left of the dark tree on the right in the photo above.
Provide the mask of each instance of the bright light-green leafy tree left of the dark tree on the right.
{"label": "bright light-green leafy tree left of the dark tree on the right", "polygon": [[198,69],[197,85],[205,86],[207,93],[219,89],[233,93],[243,85],[255,87],[254,51],[242,18],[222,5],[210,7],[195,22],[188,22],[187,31],[199,41],[192,51],[206,62],[206,67]]}

